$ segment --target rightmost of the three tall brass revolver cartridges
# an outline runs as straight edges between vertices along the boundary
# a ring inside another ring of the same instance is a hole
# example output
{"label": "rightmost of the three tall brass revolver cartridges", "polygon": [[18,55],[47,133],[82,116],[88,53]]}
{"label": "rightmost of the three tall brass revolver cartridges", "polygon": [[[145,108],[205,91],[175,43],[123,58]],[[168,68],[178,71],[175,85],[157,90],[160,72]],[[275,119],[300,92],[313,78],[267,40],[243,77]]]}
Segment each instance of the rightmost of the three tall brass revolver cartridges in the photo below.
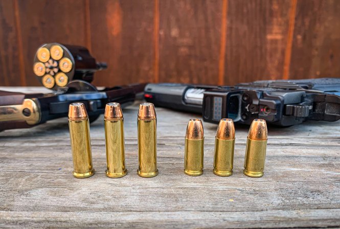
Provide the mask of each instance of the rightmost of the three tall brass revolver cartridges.
{"label": "rightmost of the three tall brass revolver cartridges", "polygon": [[138,111],[138,170],[142,177],[158,174],[156,152],[156,112],[151,103],[143,103]]}

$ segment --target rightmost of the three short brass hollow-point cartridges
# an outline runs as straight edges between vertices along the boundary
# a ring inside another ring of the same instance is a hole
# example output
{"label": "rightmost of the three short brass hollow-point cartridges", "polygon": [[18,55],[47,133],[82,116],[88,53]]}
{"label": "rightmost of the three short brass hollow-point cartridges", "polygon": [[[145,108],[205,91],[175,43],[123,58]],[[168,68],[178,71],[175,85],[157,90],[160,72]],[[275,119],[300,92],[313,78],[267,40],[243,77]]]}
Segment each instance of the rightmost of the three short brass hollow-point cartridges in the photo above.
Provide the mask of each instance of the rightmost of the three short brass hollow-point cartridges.
{"label": "rightmost of the three short brass hollow-point cartridges", "polygon": [[267,124],[263,119],[254,119],[249,129],[244,156],[243,173],[251,177],[263,176],[267,148]]}

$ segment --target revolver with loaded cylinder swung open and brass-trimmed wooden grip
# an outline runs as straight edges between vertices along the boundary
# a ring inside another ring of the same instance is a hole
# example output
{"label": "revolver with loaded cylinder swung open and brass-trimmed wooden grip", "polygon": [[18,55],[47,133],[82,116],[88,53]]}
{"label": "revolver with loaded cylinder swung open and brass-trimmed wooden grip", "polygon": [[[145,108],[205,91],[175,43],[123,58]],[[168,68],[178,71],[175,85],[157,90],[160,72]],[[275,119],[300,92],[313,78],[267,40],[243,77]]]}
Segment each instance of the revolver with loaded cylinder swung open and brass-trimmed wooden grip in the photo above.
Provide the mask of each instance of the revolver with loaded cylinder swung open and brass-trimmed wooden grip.
{"label": "revolver with loaded cylinder swung open and brass-trimmed wooden grip", "polygon": [[67,117],[69,105],[85,105],[90,122],[104,113],[105,105],[133,103],[146,84],[117,86],[98,90],[90,84],[94,72],[106,68],[97,63],[85,47],[49,43],[36,52],[33,71],[48,94],[24,94],[0,91],[0,131],[31,128],[48,120]]}

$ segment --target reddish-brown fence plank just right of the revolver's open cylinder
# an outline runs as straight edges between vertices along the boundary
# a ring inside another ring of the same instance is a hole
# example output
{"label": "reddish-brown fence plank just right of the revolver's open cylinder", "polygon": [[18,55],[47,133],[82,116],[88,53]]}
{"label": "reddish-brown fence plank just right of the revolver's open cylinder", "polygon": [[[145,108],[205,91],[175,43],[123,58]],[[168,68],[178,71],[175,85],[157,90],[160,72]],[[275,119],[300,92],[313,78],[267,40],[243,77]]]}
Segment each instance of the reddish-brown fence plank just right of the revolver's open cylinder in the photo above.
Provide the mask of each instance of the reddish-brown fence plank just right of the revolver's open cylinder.
{"label": "reddish-brown fence plank just right of the revolver's open cylinder", "polygon": [[92,54],[108,65],[94,84],[153,82],[153,13],[148,0],[90,1]]}

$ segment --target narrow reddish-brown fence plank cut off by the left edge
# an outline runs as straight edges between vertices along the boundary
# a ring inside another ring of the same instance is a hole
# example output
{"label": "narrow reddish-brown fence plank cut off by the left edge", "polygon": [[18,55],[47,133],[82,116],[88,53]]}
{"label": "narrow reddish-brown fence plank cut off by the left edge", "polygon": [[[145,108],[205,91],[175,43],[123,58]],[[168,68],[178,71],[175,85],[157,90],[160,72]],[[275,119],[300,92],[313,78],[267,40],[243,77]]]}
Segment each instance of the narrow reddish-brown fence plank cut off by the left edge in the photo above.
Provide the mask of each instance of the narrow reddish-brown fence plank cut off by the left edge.
{"label": "narrow reddish-brown fence plank cut off by the left edge", "polygon": [[[12,1],[0,1],[0,86],[20,86],[20,60]],[[22,51],[22,50],[21,50]]]}

